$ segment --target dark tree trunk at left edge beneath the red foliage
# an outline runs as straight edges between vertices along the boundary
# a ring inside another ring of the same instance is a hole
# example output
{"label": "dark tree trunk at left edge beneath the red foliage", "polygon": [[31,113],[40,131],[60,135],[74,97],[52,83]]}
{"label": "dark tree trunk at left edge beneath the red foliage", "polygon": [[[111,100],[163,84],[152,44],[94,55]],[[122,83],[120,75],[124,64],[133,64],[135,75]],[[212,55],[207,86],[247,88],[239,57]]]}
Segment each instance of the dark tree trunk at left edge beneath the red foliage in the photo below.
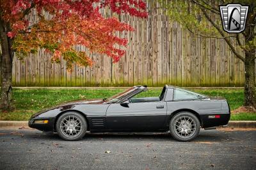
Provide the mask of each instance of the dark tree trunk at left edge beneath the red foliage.
{"label": "dark tree trunk at left edge beneath the red foliage", "polygon": [[12,40],[8,38],[8,24],[0,20],[1,38],[1,109],[10,111],[14,109],[12,105]]}

